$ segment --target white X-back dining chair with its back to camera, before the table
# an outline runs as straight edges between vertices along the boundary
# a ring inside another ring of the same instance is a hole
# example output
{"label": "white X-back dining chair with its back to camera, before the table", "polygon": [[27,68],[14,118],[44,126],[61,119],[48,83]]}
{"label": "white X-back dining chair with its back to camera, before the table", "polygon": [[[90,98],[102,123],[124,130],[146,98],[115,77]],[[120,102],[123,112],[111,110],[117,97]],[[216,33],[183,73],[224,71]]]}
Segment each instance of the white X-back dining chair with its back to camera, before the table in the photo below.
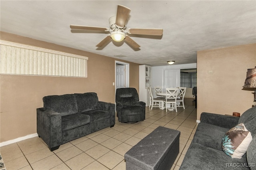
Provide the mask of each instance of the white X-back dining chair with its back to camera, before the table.
{"label": "white X-back dining chair with its back to camera, before the table", "polygon": [[178,88],[166,88],[166,98],[164,100],[166,112],[167,112],[167,104],[172,105],[172,108],[175,108],[175,111],[177,112],[177,96],[178,96]]}

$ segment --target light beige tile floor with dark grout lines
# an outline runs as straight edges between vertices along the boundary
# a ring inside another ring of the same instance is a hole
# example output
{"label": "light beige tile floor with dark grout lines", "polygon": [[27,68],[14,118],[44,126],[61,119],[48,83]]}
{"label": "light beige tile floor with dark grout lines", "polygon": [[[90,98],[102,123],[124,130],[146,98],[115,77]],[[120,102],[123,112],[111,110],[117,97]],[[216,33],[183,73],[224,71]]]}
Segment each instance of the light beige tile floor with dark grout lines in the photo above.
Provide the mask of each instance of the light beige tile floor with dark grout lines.
{"label": "light beige tile floor with dark grout lines", "polygon": [[125,170],[124,154],[158,126],[179,130],[180,153],[171,170],[178,170],[197,127],[192,99],[178,112],[146,107],[146,120],[128,124],[116,118],[113,128],[104,128],[62,144],[50,152],[39,137],[0,149],[7,170]]}

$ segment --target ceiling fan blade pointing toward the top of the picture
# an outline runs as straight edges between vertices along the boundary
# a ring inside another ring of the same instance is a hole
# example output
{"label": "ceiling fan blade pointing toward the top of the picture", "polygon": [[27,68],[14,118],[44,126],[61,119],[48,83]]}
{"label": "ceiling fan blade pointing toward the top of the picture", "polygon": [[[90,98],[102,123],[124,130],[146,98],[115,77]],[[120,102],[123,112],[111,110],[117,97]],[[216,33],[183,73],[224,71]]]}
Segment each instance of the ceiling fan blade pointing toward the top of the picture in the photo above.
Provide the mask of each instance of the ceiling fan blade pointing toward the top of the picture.
{"label": "ceiling fan blade pointing toward the top of the picture", "polygon": [[116,13],[116,25],[120,27],[124,27],[130,12],[131,12],[130,8],[127,8],[122,5],[118,5],[117,13]]}

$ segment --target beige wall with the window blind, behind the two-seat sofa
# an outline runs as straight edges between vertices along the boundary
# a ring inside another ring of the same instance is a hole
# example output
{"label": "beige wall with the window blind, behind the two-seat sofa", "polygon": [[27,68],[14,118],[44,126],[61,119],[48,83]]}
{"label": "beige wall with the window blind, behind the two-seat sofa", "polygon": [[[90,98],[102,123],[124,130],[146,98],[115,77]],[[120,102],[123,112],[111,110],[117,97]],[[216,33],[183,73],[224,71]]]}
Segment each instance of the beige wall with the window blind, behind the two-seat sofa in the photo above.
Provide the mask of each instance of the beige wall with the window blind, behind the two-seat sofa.
{"label": "beige wall with the window blind, behind the two-seat sofa", "polygon": [[[111,57],[1,33],[1,40],[54,49],[88,57],[88,77],[0,75],[0,142],[36,133],[36,108],[42,97],[96,92],[100,101],[115,103],[115,60]],[[104,50],[104,49],[103,49]],[[127,61],[123,61],[130,63]],[[130,63],[130,87],[139,90],[139,65]]]}

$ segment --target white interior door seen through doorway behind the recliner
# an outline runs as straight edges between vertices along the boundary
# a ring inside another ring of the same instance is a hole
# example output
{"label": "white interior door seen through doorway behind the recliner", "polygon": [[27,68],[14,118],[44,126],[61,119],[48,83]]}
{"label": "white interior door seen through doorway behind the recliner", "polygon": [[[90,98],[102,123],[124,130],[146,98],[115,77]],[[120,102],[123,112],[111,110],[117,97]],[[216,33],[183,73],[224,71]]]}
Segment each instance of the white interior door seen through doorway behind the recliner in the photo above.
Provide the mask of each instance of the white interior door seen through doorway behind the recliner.
{"label": "white interior door seen through doorway behind the recliner", "polygon": [[116,89],[124,88],[125,85],[125,65],[116,65]]}

